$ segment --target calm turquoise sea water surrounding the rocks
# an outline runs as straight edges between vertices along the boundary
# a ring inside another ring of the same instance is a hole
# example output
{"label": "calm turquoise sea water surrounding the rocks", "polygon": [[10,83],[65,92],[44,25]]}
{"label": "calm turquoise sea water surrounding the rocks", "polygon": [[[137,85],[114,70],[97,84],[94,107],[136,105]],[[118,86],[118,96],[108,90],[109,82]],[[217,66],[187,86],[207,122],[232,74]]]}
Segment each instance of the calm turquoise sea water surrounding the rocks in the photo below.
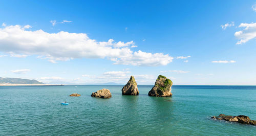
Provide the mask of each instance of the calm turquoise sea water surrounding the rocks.
{"label": "calm turquoise sea water surrounding the rocks", "polygon": [[[173,86],[171,98],[147,96],[152,87],[122,96],[122,86],[0,86],[0,135],[256,135],[256,126],[210,120],[256,120],[256,86]],[[91,97],[102,88],[111,99]]]}

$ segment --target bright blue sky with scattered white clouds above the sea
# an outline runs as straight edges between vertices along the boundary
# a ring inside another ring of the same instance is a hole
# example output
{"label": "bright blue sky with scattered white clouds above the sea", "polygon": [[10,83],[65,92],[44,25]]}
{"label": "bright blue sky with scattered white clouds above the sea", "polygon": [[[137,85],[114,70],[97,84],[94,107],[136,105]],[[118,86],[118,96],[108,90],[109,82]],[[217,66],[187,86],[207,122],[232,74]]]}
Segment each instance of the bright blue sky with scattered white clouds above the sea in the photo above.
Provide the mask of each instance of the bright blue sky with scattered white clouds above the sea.
{"label": "bright blue sky with scattered white clouds above the sea", "polygon": [[0,1],[0,77],[256,85],[256,1]]}

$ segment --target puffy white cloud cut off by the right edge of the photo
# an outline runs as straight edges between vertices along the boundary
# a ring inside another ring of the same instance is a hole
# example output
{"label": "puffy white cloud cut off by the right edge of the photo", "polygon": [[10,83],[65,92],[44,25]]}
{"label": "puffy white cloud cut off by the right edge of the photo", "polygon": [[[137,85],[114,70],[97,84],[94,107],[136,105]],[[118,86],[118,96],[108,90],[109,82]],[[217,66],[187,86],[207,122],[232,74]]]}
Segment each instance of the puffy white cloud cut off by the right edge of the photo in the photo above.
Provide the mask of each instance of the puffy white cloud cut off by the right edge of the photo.
{"label": "puffy white cloud cut off by the right edge of the photo", "polygon": [[236,36],[239,41],[236,44],[242,44],[247,42],[248,40],[251,40],[256,37],[256,23],[241,23],[239,25],[239,28],[245,28],[241,31],[237,31],[234,33],[234,36]]}

